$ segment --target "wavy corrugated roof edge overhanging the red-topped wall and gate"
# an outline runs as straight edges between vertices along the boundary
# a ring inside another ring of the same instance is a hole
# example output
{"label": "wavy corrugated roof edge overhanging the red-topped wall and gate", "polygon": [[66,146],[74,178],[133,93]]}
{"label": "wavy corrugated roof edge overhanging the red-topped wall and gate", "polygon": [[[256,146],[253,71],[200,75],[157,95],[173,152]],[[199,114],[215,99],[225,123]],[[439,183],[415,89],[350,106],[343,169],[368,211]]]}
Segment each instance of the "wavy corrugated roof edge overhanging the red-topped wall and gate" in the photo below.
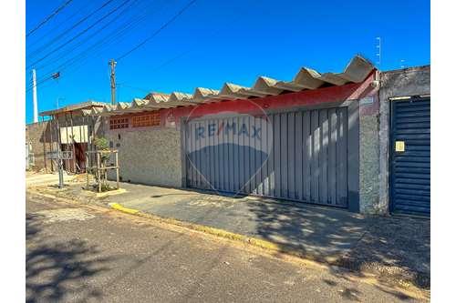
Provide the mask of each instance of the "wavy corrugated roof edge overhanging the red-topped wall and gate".
{"label": "wavy corrugated roof edge overhanging the red-topped wall and gate", "polygon": [[284,92],[299,92],[306,89],[317,89],[321,86],[343,86],[348,83],[363,82],[373,70],[374,66],[367,59],[362,56],[355,56],[343,73],[320,74],[313,69],[302,67],[292,81],[279,81],[267,76],[260,76],[252,87],[225,83],[220,90],[197,87],[192,95],[181,92],[172,92],[170,95],[150,93],[143,99],[135,98],[129,104],[105,106],[102,110],[92,108],[89,114],[86,112],[84,114],[95,116],[124,115],[162,108],[195,106],[220,100],[276,96]]}

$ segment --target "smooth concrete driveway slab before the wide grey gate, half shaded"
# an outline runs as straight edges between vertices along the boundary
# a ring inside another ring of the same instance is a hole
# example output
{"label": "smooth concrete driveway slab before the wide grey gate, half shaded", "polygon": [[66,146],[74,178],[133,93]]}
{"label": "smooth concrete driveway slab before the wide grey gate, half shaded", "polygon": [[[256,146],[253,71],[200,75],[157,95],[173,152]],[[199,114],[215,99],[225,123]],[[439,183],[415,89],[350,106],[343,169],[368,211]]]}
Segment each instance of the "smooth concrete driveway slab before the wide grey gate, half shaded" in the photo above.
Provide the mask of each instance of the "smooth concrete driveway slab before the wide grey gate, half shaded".
{"label": "smooth concrete driveway slab before the wide grey gate, half shaded", "polygon": [[335,259],[347,253],[368,226],[367,220],[346,211],[303,207],[285,201],[266,202],[252,197],[163,192],[143,199],[122,200],[119,196],[116,200],[124,207],[160,217],[172,217],[293,247],[319,260]]}

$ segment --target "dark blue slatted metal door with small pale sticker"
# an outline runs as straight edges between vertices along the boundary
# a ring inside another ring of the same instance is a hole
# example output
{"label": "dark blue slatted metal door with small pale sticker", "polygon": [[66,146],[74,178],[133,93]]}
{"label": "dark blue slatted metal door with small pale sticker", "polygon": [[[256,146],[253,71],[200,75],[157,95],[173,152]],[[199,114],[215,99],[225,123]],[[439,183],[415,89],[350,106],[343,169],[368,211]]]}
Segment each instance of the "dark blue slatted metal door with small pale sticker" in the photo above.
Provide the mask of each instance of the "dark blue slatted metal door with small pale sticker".
{"label": "dark blue slatted metal door with small pale sticker", "polygon": [[430,99],[391,102],[393,213],[430,216]]}

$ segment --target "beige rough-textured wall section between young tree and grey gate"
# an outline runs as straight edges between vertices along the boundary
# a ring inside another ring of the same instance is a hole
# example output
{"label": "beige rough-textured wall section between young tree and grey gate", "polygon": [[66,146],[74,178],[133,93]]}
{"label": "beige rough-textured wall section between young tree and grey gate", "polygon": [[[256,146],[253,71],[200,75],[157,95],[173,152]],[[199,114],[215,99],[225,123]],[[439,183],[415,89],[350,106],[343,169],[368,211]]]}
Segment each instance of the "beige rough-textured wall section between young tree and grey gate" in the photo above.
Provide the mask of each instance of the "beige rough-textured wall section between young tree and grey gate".
{"label": "beige rough-textured wall section between young tree and grey gate", "polygon": [[[181,132],[171,127],[107,131],[119,150],[122,181],[165,187],[181,187]],[[120,136],[120,138],[119,138]],[[115,175],[111,172],[109,178]]]}

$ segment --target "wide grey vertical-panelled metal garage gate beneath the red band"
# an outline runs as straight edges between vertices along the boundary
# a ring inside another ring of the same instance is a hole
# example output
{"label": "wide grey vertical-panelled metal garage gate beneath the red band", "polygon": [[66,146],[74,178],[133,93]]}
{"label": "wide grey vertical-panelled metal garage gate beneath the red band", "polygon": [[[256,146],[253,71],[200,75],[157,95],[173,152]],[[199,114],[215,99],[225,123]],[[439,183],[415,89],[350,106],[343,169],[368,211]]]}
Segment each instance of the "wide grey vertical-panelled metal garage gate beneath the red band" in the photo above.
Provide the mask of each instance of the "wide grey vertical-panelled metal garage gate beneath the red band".
{"label": "wide grey vertical-panelled metal garage gate beneath the red band", "polygon": [[186,187],[358,211],[358,129],[356,102],[192,119],[182,134]]}

